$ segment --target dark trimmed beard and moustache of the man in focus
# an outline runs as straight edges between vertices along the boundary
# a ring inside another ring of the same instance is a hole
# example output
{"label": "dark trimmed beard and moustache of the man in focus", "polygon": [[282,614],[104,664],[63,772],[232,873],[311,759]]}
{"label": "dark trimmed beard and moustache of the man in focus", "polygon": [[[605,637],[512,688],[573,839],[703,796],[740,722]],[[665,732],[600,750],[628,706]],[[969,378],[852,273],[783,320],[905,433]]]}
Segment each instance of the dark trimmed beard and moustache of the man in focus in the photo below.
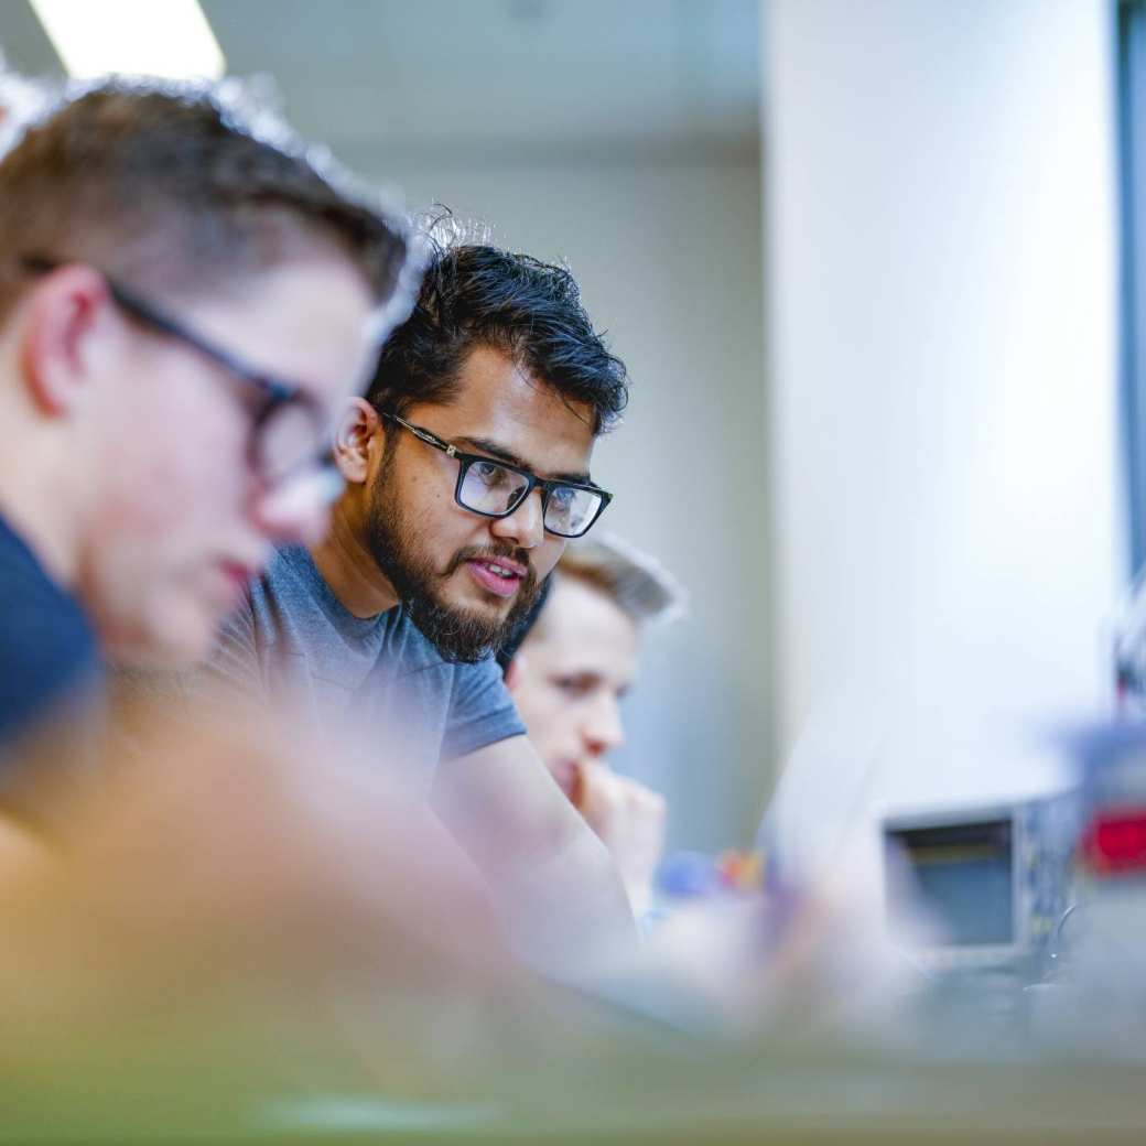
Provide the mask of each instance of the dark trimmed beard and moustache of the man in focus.
{"label": "dark trimmed beard and moustache of the man in focus", "polygon": [[[434,572],[430,559],[416,550],[416,539],[407,528],[400,497],[390,488],[391,456],[383,462],[367,511],[366,541],[410,620],[434,646],[442,660],[472,665],[495,654],[517,631],[537,596],[537,575],[528,554],[512,547],[463,549],[455,554],[445,574]],[[438,596],[435,587],[471,557],[505,557],[528,572],[517,590],[512,607],[500,620],[455,609]]]}

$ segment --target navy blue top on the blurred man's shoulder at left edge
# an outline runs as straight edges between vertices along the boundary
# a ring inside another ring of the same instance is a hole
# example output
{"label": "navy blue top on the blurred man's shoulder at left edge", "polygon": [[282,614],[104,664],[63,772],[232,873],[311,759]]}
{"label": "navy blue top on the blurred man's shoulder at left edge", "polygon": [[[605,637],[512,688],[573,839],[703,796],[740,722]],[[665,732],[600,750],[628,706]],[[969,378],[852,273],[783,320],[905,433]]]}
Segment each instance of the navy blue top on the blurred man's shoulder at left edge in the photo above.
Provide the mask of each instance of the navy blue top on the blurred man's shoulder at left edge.
{"label": "navy blue top on the blurred man's shoulder at left edge", "polygon": [[86,699],[97,678],[83,610],[0,517],[0,768],[5,744]]}

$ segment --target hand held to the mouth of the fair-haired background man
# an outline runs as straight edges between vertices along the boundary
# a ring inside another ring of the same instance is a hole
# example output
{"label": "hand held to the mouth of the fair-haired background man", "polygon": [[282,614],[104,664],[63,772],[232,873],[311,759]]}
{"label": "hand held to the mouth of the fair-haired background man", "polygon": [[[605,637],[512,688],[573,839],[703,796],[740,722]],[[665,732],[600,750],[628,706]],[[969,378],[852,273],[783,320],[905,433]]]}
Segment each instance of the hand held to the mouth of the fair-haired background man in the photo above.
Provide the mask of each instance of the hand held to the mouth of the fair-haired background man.
{"label": "hand held to the mouth of the fair-haired background man", "polygon": [[578,766],[573,804],[612,854],[634,909],[643,910],[665,847],[665,798],[587,761]]}

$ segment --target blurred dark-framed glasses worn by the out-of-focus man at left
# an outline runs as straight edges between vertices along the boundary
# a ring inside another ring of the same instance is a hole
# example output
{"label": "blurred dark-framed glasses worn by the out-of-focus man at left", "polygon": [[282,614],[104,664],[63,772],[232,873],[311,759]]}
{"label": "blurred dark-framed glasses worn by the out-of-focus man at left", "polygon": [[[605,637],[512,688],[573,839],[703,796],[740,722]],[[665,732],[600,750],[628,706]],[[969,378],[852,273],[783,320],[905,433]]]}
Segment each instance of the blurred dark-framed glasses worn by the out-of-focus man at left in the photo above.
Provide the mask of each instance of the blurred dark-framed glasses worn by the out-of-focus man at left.
{"label": "blurred dark-framed glasses worn by the out-of-focus man at left", "polygon": [[[21,259],[24,269],[32,274],[50,274],[68,261],[40,254]],[[303,386],[250,366],[237,354],[217,346],[160,307],[146,301],[99,267],[93,269],[103,276],[112,300],[125,314],[190,346],[222,367],[233,380],[248,387],[253,399],[246,444],[248,462],[261,480],[277,486],[300,473],[333,472],[330,415],[313,394]]]}

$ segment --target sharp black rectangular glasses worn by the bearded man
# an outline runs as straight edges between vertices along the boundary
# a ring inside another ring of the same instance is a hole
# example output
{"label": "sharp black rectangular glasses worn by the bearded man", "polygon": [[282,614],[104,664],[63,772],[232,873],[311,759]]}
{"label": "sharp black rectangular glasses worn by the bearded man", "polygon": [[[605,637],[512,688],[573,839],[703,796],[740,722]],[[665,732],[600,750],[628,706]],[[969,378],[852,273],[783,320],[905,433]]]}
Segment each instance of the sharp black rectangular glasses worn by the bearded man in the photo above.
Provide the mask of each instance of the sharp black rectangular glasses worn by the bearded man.
{"label": "sharp black rectangular glasses worn by the bearded man", "polygon": [[397,414],[382,411],[382,417],[409,430],[415,438],[440,449],[457,462],[457,485],[454,501],[462,509],[482,517],[509,517],[534,489],[541,490],[541,520],[549,533],[558,537],[581,537],[592,528],[613,495],[598,486],[576,481],[554,481],[539,478],[509,462],[499,462],[484,454],[466,454],[448,441],[416,426]]}

